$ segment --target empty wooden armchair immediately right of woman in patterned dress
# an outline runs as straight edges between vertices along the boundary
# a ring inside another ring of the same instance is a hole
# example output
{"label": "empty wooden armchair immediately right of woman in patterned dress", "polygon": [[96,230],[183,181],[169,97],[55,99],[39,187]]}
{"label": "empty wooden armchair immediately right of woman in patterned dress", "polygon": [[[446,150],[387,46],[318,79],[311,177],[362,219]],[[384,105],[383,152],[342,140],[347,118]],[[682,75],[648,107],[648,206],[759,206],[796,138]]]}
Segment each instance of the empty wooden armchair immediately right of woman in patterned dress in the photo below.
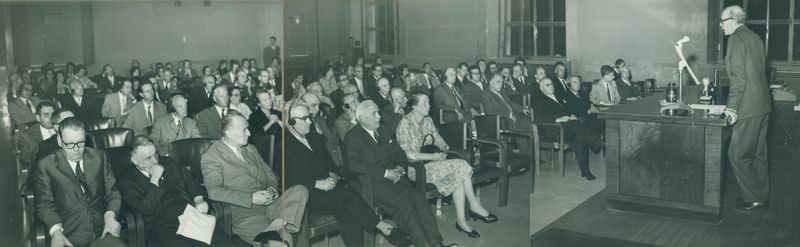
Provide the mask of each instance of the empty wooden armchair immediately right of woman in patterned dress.
{"label": "empty wooden armchair immediately right of woman in patterned dress", "polygon": [[[467,137],[466,123],[444,124],[439,128],[439,134],[444,138],[447,145],[450,146],[449,151],[452,154],[467,160],[470,164],[473,164],[472,160],[475,155],[468,151],[470,147],[468,143],[481,146],[493,146],[494,149],[500,149],[500,147],[503,146],[503,144],[497,141]],[[488,150],[489,149],[486,151]],[[499,206],[505,206],[508,200],[508,170],[502,169],[501,167],[503,164],[507,163],[507,157],[505,155],[501,156],[502,157],[498,157],[497,162],[491,158],[483,158],[483,156],[481,156],[478,164],[473,167],[472,183],[481,184],[497,180],[498,195],[500,195],[497,204]],[[499,159],[502,159],[502,162],[499,162]]]}

